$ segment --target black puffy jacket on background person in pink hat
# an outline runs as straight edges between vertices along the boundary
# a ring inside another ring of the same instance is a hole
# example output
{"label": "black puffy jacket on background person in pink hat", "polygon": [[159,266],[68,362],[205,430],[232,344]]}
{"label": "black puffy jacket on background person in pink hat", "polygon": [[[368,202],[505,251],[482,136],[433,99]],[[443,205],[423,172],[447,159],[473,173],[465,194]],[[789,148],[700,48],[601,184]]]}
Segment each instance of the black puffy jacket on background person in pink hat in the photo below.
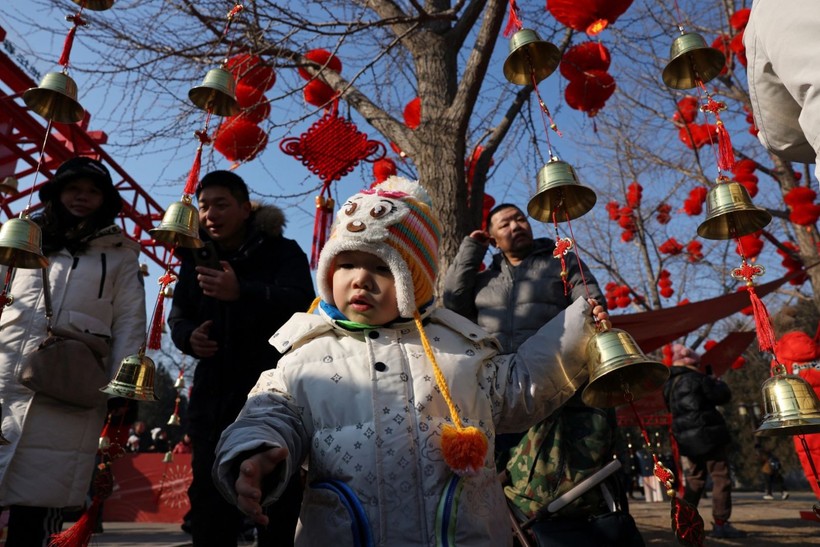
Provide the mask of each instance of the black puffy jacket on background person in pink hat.
{"label": "black puffy jacket on background person in pink hat", "polygon": [[681,454],[703,456],[729,444],[729,429],[716,408],[732,398],[725,383],[689,367],[674,366],[663,398],[672,412],[672,433]]}

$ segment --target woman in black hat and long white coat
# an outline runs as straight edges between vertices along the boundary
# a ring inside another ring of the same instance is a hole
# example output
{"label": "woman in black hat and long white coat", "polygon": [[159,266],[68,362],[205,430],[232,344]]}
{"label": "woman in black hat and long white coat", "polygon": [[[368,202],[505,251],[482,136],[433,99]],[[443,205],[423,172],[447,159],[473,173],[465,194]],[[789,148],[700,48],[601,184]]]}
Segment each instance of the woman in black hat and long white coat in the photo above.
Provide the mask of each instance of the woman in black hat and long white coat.
{"label": "woman in black hat and long white coat", "polygon": [[[145,339],[139,244],[114,224],[122,198],[102,163],[78,157],[57,169],[40,200],[45,208],[32,220],[43,232],[53,324],[106,340],[113,377]],[[106,406],[72,406],[17,382],[23,358],[46,336],[42,270],[16,269],[11,287],[14,302],[0,316],[2,434],[10,441],[0,446],[0,506],[9,510],[6,547],[36,547],[60,530],[61,508],[85,502]]]}

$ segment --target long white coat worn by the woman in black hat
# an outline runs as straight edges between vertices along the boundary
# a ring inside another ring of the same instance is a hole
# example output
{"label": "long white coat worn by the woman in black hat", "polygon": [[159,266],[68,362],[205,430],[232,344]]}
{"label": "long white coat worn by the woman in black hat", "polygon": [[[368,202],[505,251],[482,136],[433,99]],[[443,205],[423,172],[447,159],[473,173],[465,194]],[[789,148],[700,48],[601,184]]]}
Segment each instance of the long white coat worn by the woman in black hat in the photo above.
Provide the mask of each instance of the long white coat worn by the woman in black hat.
{"label": "long white coat worn by the woman in black hat", "polygon": [[[145,339],[145,289],[139,244],[116,226],[72,256],[48,255],[54,324],[109,340],[109,376]],[[5,269],[0,268],[5,276]],[[0,505],[82,505],[94,468],[105,405],[84,409],[35,395],[16,381],[22,357],[46,336],[42,270],[16,269],[14,302],[0,316]]]}

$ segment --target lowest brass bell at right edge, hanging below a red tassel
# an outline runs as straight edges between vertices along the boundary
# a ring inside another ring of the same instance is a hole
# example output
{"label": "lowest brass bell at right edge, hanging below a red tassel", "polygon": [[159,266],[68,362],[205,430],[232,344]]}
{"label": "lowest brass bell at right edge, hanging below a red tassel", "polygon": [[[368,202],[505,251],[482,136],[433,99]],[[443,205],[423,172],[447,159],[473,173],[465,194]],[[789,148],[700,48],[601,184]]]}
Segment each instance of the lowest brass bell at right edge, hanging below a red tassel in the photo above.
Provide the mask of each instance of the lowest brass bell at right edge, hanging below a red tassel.
{"label": "lowest brass bell at right edge, hanging below a red tassel", "polygon": [[761,437],[820,433],[820,400],[811,385],[795,374],[785,374],[782,365],[763,382],[766,414],[755,431]]}

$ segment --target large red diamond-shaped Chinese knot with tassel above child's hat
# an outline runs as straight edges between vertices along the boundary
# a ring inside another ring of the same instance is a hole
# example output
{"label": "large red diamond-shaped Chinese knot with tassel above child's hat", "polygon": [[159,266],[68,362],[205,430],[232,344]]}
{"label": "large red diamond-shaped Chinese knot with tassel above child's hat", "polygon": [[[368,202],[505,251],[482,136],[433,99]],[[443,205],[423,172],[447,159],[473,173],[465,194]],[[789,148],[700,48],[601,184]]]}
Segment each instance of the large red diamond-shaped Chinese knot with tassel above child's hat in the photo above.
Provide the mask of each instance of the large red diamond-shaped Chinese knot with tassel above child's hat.
{"label": "large red diamond-shaped Chinese knot with tassel above child's hat", "polygon": [[352,172],[359,162],[376,161],[385,153],[382,143],[368,140],[367,135],[359,131],[353,122],[340,117],[338,110],[338,103],[334,102],[333,107],[305,133],[279,143],[282,152],[301,161],[322,180],[314,219],[312,268],[318,265],[319,253],[330,235],[328,232],[333,216],[330,184]]}

